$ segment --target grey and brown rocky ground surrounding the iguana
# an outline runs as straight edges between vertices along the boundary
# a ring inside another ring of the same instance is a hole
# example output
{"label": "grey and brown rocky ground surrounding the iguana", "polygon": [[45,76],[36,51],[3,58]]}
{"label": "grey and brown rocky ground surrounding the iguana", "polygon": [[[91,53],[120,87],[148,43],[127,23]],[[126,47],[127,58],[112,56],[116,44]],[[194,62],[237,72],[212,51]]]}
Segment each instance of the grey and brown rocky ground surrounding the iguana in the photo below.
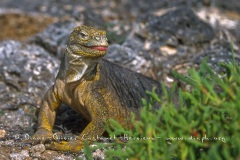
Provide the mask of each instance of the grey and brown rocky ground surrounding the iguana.
{"label": "grey and brown rocky ground surrounding the iguana", "polygon": [[[81,24],[107,30],[107,59],[167,85],[171,69],[184,74],[204,58],[224,72],[217,64],[231,61],[230,44],[240,62],[238,0],[0,0],[0,159],[84,158],[22,141],[36,130],[41,98]],[[54,131],[76,135],[86,124],[62,105]]]}

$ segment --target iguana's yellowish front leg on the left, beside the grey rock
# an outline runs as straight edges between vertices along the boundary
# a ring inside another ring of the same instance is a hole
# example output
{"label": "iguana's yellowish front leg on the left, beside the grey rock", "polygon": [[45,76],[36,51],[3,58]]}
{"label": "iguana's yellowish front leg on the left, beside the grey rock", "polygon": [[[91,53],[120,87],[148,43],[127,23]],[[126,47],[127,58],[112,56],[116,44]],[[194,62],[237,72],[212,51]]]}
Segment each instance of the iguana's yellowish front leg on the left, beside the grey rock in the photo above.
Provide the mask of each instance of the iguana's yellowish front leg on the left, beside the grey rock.
{"label": "iguana's yellowish front leg on the left, beside the grey rock", "polygon": [[52,86],[42,101],[42,107],[38,116],[38,129],[33,135],[32,139],[35,142],[44,142],[52,139],[52,128],[56,118],[56,109],[59,107],[61,101],[56,92],[56,87]]}

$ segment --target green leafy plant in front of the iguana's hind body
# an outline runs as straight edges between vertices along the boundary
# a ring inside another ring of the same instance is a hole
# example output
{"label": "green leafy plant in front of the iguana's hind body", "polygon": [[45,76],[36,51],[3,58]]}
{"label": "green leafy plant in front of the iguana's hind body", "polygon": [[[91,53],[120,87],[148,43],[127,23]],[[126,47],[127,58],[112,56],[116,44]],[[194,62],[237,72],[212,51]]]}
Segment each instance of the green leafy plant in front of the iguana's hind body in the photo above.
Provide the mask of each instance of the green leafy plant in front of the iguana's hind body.
{"label": "green leafy plant in front of the iguana's hind body", "polygon": [[[177,105],[171,102],[175,87],[167,91],[163,86],[165,96],[161,98],[154,90],[148,92],[151,100],[143,100],[140,121],[133,116],[134,129],[111,120],[108,133],[123,140],[117,138],[98,147],[106,148],[107,159],[240,158],[240,67],[234,60],[220,66],[226,75],[218,75],[206,62],[199,71],[189,70],[188,76],[173,72],[192,86],[191,91],[179,89]],[[154,102],[161,108],[152,111]]]}

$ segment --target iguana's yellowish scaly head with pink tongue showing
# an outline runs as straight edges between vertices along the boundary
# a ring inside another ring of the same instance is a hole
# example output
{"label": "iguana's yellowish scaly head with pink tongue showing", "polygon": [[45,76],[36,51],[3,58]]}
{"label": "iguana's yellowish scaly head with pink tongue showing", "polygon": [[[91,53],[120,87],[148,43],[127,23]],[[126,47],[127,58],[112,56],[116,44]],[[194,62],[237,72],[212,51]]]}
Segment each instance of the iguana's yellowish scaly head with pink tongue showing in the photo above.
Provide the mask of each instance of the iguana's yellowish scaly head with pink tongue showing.
{"label": "iguana's yellowish scaly head with pink tongue showing", "polygon": [[74,54],[82,57],[102,57],[108,48],[106,32],[90,26],[76,27],[70,34],[68,45]]}

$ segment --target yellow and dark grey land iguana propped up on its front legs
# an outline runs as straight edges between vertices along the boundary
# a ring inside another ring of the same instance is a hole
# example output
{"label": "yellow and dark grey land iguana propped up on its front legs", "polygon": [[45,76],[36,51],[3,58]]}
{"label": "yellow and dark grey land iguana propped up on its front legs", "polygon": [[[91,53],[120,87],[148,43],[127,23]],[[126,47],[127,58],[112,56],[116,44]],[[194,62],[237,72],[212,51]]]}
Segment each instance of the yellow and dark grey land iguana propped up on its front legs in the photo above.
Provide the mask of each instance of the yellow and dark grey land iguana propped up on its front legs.
{"label": "yellow and dark grey land iguana propped up on its front legs", "polygon": [[77,140],[52,142],[48,148],[78,152],[83,148],[82,137],[101,136],[110,118],[127,126],[131,112],[139,115],[141,99],[149,99],[147,90],[155,87],[161,94],[157,81],[102,58],[107,48],[105,31],[84,25],[73,30],[55,83],[43,98],[33,139],[52,138],[56,110],[63,102],[89,124]]}

